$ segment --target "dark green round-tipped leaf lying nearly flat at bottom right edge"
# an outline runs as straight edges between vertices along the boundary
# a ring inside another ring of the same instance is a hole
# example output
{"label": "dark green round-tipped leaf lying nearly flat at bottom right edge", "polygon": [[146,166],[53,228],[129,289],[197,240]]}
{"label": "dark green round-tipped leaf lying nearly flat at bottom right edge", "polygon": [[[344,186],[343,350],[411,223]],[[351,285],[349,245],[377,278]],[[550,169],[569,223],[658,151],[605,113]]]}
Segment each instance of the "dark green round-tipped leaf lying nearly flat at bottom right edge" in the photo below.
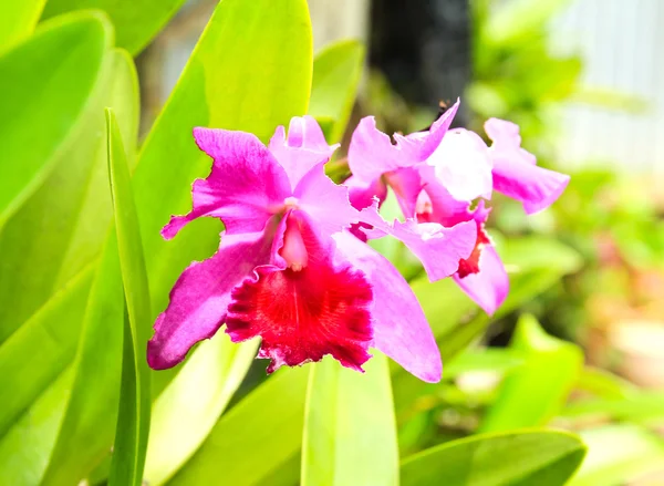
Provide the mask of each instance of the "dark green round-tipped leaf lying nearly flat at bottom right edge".
{"label": "dark green round-tipped leaf lying nearly flat at bottom right edge", "polygon": [[406,458],[401,484],[560,486],[579,467],[584,454],[583,443],[563,432],[476,435]]}

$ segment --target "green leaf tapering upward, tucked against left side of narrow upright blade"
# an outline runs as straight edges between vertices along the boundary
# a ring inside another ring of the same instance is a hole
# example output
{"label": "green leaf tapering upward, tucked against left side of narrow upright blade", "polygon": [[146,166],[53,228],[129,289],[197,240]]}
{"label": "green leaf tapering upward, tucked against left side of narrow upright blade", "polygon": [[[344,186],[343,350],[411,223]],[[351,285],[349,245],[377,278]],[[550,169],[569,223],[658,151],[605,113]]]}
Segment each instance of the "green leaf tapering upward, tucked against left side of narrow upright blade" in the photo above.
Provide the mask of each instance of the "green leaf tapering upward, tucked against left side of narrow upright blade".
{"label": "green leaf tapering upward, tucked against left side of narrow upright blade", "polygon": [[[108,454],[117,417],[124,298],[112,231],[90,291],[74,381],[42,484],[77,484]],[[66,325],[64,325],[66,328]]]}

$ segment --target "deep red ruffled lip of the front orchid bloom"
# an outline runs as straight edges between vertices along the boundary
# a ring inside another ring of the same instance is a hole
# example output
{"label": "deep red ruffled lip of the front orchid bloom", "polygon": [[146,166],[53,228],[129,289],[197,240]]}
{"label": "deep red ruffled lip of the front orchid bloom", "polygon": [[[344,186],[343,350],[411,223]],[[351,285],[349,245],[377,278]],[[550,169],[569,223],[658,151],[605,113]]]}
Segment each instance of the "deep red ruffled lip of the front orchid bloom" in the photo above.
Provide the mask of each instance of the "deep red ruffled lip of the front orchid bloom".
{"label": "deep red ruffled lip of the front orchid bloom", "polygon": [[334,265],[333,241],[319,240],[300,217],[307,266],[258,268],[232,292],[227,333],[234,342],[261,337],[259,356],[272,360],[268,373],[284,364],[319,361],[325,354],[362,371],[373,339],[371,286],[350,265]]}

